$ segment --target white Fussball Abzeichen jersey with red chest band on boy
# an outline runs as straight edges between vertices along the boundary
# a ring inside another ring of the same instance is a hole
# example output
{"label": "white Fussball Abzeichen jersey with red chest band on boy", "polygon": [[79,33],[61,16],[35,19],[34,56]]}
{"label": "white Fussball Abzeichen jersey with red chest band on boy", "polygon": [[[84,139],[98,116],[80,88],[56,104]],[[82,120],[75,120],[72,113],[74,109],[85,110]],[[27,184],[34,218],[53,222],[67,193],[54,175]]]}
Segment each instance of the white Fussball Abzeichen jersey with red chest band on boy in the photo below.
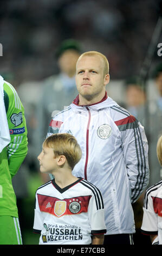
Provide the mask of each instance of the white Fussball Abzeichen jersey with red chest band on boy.
{"label": "white Fussball Abzeichen jersey with red chest band on boy", "polygon": [[51,180],[36,191],[34,232],[40,245],[88,245],[91,236],[105,234],[101,192],[83,178],[60,188]]}

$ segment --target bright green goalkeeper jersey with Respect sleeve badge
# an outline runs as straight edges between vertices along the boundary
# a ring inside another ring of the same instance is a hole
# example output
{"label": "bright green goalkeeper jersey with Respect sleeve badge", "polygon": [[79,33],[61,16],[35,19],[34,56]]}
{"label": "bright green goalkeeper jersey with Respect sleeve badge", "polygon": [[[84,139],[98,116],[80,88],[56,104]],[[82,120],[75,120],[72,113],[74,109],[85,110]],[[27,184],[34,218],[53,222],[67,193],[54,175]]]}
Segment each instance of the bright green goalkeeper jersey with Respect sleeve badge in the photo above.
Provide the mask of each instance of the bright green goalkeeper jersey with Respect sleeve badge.
{"label": "bright green goalkeeper jersey with Respect sleeve badge", "polygon": [[16,90],[5,81],[3,89],[11,141],[0,153],[0,216],[18,217],[12,177],[27,155],[27,126],[24,107]]}

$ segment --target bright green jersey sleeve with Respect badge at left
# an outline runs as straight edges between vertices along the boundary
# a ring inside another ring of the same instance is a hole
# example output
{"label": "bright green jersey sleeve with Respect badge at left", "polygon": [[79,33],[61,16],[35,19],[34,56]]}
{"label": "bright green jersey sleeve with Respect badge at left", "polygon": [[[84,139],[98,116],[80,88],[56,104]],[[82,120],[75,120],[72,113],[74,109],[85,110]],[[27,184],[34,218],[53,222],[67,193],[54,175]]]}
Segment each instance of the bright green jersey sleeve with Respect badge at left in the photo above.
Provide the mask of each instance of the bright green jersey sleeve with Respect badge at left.
{"label": "bright green jersey sleeve with Respect badge at left", "polygon": [[4,103],[11,141],[7,148],[11,178],[17,173],[28,152],[27,125],[24,107],[14,87],[4,82]]}

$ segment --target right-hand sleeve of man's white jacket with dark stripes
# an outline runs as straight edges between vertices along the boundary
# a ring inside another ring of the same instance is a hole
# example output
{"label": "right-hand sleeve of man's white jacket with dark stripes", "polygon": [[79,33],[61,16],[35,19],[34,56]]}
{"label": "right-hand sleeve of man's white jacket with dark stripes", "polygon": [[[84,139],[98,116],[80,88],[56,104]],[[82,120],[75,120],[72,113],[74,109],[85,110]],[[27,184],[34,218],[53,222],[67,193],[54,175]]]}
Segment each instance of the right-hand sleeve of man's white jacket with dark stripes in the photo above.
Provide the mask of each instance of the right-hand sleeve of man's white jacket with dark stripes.
{"label": "right-hand sleeve of man's white jacket with dark stripes", "polygon": [[133,115],[118,122],[127,168],[132,203],[137,201],[149,180],[148,143],[144,127]]}

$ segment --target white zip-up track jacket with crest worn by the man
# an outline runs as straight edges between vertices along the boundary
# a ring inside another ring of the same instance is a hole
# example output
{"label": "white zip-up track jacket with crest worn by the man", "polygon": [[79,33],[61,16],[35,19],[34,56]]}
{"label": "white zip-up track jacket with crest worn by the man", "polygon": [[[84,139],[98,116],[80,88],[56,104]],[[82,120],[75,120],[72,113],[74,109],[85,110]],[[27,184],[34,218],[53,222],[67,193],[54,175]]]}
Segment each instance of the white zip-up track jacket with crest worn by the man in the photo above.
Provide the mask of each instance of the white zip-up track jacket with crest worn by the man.
{"label": "white zip-up track jacket with crest worn by the man", "polygon": [[[79,106],[79,96],[51,120],[48,135],[72,133],[82,149],[73,174],[99,188],[107,234],[134,233],[132,203],[148,185],[148,143],[144,127],[105,94]],[[53,177],[51,177],[53,179]]]}

